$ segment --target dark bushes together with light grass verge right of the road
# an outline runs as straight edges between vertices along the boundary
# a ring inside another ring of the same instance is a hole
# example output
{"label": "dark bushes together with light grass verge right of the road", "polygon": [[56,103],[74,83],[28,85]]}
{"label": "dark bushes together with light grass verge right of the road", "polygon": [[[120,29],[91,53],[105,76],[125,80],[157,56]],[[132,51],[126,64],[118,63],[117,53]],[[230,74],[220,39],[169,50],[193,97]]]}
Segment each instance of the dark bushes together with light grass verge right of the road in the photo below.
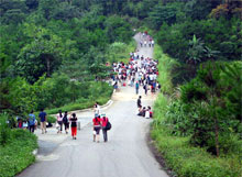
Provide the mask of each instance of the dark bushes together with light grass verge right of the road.
{"label": "dark bushes together with light grass verge right of the road", "polygon": [[[164,66],[175,66],[174,59],[161,51],[155,53],[160,53],[158,59]],[[163,95],[167,92],[164,86],[155,101],[152,137],[173,175],[242,175],[241,75],[238,67],[240,63],[202,65],[198,76],[180,89],[174,89],[170,97]],[[170,88],[170,70],[163,69],[158,77]],[[211,78],[216,78],[216,85],[209,84],[215,81]],[[213,97],[211,87],[215,88]],[[212,155],[216,154],[217,125],[219,157]]]}

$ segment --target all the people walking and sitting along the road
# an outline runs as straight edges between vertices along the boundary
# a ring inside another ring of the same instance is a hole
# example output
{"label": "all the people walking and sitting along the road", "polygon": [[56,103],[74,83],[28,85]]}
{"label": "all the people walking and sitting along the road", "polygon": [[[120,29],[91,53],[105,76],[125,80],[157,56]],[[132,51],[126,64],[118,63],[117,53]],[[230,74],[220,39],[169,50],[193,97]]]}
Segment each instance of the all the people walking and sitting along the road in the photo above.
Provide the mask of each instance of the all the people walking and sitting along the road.
{"label": "all the people walking and sitting along the road", "polygon": [[[153,38],[147,34],[147,32],[139,33],[140,36],[140,47],[154,47]],[[154,60],[150,57],[144,57],[140,55],[139,49],[133,53],[130,53],[130,59],[128,64],[122,62],[113,63],[112,68],[116,75],[111,76],[112,86],[117,91],[119,86],[121,87],[132,87],[134,88],[135,95],[141,93],[141,88],[143,88],[143,92],[145,96],[151,93],[155,93],[157,89],[161,88],[161,85],[157,82],[157,60]],[[138,115],[144,117],[146,119],[153,117],[153,112],[151,107],[142,106],[142,96],[138,98]],[[109,119],[106,117],[105,112],[101,112],[100,106],[98,102],[94,106],[94,119],[92,119],[92,128],[94,128],[94,142],[100,142],[100,132],[103,134],[103,142],[108,142],[108,131],[111,129],[111,123]],[[47,123],[47,114],[42,109],[40,114],[40,124],[42,134],[47,133],[46,123]],[[26,128],[29,128],[30,132],[34,133],[34,130],[37,125],[37,120],[31,111],[29,114],[28,122],[25,122]],[[24,122],[21,126],[24,125]],[[76,113],[69,113],[62,110],[56,114],[56,129],[57,134],[62,134],[65,131],[66,134],[69,132],[69,126],[72,131],[73,140],[77,139],[77,126],[78,126],[78,118]]]}

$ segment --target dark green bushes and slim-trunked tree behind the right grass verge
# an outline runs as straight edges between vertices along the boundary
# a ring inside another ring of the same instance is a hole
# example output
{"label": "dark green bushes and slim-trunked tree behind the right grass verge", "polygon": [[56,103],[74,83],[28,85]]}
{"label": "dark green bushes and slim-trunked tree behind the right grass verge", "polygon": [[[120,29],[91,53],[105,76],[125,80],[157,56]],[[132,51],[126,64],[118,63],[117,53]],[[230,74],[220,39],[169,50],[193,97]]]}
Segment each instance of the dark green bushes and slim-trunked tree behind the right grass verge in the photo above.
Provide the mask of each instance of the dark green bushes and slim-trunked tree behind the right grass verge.
{"label": "dark green bushes and slim-trunked tree behind the right grass verge", "polygon": [[[234,137],[241,133],[238,119],[241,114],[231,110],[237,110],[240,104],[240,100],[235,99],[241,98],[240,67],[223,63],[201,66],[198,76],[182,86],[180,99],[173,100],[167,107],[164,123],[170,132],[175,135],[190,135],[191,144],[205,147],[212,154],[234,150],[234,142],[239,141]],[[233,106],[227,107],[230,95],[233,95]]]}

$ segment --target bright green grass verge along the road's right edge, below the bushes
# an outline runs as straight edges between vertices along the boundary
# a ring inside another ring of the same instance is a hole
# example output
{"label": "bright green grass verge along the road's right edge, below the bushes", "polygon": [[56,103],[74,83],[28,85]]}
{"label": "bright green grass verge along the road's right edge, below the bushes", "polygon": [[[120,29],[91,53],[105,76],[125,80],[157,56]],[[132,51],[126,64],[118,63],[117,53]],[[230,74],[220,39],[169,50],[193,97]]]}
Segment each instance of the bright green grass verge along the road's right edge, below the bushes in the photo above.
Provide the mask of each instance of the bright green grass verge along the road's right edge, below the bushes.
{"label": "bright green grass verge along the road's right edge, below the bushes", "polygon": [[[160,97],[165,99],[162,93],[160,93]],[[182,137],[170,134],[170,126],[163,123],[166,120],[167,104],[168,101],[161,101],[161,99],[156,100],[151,136],[155,140],[155,146],[165,158],[166,167],[172,168],[172,174],[174,176],[240,177],[242,175],[242,151],[238,151],[241,144],[237,139],[234,139],[233,143],[237,146],[237,152],[231,152],[230,154],[224,154],[222,157],[216,158],[207,153],[205,148],[190,145],[190,136]],[[228,143],[231,143],[231,141]]]}

